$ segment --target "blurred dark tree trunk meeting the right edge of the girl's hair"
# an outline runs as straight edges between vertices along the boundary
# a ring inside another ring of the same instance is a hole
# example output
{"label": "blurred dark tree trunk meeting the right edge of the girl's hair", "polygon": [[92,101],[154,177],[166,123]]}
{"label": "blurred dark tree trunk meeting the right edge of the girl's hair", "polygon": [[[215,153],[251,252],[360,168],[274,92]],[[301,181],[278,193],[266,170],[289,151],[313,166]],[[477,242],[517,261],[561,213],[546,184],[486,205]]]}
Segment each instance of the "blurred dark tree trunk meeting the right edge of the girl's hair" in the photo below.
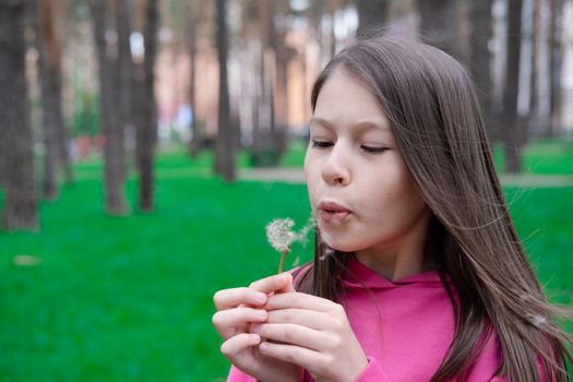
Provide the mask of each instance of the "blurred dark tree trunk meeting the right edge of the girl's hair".
{"label": "blurred dark tree trunk meeting the right edge of the girl's hair", "polygon": [[500,129],[492,102],[493,84],[491,81],[488,48],[492,35],[492,0],[471,2],[471,51],[469,70],[477,87],[477,96],[484,115],[484,123],[490,141],[500,141]]}

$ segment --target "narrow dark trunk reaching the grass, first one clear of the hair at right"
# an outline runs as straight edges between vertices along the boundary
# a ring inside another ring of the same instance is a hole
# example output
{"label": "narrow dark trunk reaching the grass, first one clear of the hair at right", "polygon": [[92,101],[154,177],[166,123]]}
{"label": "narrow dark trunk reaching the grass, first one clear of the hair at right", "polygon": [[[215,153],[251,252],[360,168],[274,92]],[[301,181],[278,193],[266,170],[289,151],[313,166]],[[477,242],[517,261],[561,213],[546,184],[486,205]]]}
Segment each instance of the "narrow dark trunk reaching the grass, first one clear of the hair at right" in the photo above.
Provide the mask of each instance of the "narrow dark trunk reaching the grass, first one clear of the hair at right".
{"label": "narrow dark trunk reaching the grass, first one clear of the hair at right", "polygon": [[520,86],[520,50],[522,32],[522,0],[509,0],[508,21],[508,65],[503,109],[505,112],[505,170],[518,172],[521,163],[521,142],[517,126],[517,92]]}

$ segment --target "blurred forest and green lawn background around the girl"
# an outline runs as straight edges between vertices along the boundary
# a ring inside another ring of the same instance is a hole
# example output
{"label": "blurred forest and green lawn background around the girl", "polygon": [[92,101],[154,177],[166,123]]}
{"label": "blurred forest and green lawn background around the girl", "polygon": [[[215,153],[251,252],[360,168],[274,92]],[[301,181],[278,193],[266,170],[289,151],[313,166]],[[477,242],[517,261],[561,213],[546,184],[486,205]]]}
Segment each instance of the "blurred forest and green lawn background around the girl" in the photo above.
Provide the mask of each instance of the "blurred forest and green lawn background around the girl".
{"label": "blurred forest and green lawn background around the girl", "polygon": [[572,0],[0,0],[0,380],[224,380],[212,295],[275,272],[312,82],[372,33],[466,67],[573,312]]}

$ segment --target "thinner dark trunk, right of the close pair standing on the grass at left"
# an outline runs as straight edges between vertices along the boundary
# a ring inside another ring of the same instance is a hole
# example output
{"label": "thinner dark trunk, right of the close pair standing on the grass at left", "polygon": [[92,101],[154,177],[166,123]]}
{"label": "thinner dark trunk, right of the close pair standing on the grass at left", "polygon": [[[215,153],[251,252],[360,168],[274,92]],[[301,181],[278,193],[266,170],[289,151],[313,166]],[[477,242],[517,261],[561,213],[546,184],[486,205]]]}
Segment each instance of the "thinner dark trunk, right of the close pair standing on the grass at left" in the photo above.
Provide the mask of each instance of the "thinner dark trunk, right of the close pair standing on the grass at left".
{"label": "thinner dark trunk, right of the close pair standing on the grass at left", "polygon": [[141,84],[143,97],[140,99],[140,114],[143,117],[136,127],[136,155],[140,174],[141,211],[152,211],[153,199],[153,158],[157,141],[157,110],[155,104],[155,57],[157,52],[157,28],[159,13],[157,0],[147,0],[145,9],[145,25],[143,32],[145,58],[143,60],[143,82]]}

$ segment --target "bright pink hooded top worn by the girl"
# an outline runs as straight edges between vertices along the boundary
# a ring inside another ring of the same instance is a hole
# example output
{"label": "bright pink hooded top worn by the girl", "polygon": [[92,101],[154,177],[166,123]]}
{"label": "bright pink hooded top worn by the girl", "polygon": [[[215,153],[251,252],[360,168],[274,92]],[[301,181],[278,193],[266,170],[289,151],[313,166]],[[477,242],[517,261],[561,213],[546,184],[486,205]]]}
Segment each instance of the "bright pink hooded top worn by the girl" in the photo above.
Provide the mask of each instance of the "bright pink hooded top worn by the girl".
{"label": "bright pink hooded top worn by the girl", "polygon": [[[453,307],[435,271],[389,280],[353,259],[343,280],[353,331],[368,357],[355,382],[429,381],[454,334]],[[454,291],[455,293],[455,291]],[[465,381],[505,381],[496,333],[488,337]],[[306,373],[305,380],[311,380]],[[254,382],[235,367],[227,381]]]}

